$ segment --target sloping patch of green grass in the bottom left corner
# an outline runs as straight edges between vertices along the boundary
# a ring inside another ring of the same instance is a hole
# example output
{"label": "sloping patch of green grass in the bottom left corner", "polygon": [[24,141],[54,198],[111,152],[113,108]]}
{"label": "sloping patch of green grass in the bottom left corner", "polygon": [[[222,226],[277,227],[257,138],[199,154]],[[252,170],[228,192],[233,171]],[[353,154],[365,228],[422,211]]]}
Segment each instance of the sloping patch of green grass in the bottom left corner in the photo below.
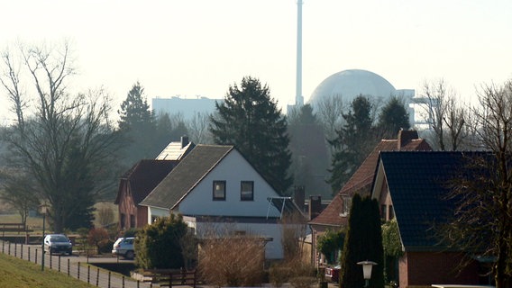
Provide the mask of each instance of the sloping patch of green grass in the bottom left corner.
{"label": "sloping patch of green grass in the bottom left corner", "polygon": [[0,288],[13,287],[94,287],[68,275],[45,269],[26,260],[0,253]]}

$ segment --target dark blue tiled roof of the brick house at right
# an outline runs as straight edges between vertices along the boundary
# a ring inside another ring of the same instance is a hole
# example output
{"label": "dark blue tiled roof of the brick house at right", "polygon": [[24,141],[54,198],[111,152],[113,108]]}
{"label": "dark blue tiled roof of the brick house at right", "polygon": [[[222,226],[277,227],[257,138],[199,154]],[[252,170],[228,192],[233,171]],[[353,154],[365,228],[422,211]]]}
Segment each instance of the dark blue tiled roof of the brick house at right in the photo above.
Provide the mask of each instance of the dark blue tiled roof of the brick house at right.
{"label": "dark blue tiled roof of the brick house at right", "polygon": [[[446,199],[453,176],[486,152],[381,152],[402,243],[407,250],[438,246],[434,224],[444,223],[455,203]],[[466,174],[467,175],[467,174]]]}

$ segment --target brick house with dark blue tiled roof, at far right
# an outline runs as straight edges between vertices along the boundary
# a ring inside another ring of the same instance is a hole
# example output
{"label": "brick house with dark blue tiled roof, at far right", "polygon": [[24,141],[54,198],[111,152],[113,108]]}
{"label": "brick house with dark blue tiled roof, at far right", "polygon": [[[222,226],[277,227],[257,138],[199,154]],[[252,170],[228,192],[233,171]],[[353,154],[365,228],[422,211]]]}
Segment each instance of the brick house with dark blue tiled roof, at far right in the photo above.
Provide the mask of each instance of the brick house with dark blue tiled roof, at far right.
{"label": "brick house with dark blue tiled roof, at far right", "polygon": [[[400,287],[432,284],[489,284],[490,263],[478,255],[445,247],[438,227],[453,216],[455,202],[444,195],[468,158],[485,152],[380,152],[371,196],[382,220],[395,218],[404,255],[398,259]],[[469,175],[471,176],[471,175]],[[462,257],[471,260],[460,266]]]}

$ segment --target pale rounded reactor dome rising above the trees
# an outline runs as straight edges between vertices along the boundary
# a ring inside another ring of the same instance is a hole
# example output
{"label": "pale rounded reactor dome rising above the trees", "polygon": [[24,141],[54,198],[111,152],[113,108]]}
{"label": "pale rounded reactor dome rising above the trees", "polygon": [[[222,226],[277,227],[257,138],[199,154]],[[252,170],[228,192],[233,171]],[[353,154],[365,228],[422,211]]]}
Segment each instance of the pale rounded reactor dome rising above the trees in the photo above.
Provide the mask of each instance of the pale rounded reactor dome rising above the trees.
{"label": "pale rounded reactor dome rising above the trees", "polygon": [[315,105],[322,98],[337,96],[343,98],[343,103],[362,95],[389,98],[397,94],[397,90],[384,77],[370,71],[351,69],[334,73],[317,85],[309,98],[309,103]]}

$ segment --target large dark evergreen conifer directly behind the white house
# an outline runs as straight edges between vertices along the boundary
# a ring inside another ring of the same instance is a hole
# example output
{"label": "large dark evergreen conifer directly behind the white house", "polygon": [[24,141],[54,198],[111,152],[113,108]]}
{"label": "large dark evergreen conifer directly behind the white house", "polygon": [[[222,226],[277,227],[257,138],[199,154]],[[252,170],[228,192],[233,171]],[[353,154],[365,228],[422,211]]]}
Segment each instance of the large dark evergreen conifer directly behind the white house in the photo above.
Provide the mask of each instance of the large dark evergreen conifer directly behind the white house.
{"label": "large dark evergreen conifer directly behind the white house", "polygon": [[240,87],[230,86],[224,103],[215,108],[209,126],[214,142],[234,145],[278,193],[286,193],[292,184],[288,125],[269,87],[243,77]]}

